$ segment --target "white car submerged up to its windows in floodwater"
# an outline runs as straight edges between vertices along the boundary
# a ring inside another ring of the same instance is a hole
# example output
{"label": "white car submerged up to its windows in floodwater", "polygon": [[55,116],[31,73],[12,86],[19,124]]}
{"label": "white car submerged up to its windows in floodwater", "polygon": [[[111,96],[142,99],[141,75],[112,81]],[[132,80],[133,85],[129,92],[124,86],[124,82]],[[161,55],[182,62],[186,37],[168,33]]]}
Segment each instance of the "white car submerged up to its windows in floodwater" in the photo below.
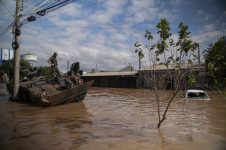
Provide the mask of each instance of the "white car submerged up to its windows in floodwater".
{"label": "white car submerged up to its windows in floodwater", "polygon": [[210,97],[203,90],[187,90],[185,94],[187,100],[210,100]]}

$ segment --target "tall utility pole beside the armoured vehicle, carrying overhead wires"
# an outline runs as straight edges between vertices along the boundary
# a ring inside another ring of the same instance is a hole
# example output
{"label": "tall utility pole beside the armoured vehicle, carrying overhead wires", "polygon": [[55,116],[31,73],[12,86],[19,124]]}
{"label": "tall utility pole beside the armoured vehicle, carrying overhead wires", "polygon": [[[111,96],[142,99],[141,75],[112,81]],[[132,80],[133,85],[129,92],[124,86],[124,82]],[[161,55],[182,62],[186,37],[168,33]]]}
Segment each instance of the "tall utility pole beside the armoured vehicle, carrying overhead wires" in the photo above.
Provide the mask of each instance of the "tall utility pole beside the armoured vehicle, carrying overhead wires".
{"label": "tall utility pole beside the armoured vehicle, carrying overhead wires", "polygon": [[16,98],[19,90],[20,82],[20,0],[16,0],[16,14],[15,14],[15,26],[14,26],[14,42],[12,47],[14,49],[14,80],[13,80],[13,99]]}

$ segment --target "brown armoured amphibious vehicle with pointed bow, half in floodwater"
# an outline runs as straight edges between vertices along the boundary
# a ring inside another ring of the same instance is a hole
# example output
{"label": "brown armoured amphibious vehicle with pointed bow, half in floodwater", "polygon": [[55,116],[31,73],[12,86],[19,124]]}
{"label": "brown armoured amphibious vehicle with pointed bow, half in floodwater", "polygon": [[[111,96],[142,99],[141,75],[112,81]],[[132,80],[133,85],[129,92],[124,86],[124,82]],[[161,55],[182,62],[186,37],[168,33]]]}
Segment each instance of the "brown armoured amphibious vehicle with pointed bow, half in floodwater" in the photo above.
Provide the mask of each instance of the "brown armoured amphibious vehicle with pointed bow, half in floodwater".
{"label": "brown armoured amphibious vehicle with pointed bow, half in floodwater", "polygon": [[[75,64],[71,67],[73,71]],[[54,106],[82,101],[92,81],[82,82],[70,73],[65,77],[35,77],[20,82],[19,91],[14,101],[27,102],[37,106]],[[12,89],[12,88],[11,88]]]}

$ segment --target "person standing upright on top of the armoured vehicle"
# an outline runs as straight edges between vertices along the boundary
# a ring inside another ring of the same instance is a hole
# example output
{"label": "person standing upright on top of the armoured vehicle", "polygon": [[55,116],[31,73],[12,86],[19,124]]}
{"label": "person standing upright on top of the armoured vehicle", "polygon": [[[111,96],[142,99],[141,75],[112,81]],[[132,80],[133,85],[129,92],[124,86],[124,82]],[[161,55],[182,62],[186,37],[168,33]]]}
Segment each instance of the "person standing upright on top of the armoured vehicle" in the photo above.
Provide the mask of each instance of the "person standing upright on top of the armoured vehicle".
{"label": "person standing upright on top of the armoured vehicle", "polygon": [[58,78],[60,76],[60,71],[57,67],[57,53],[54,52],[53,56],[51,56],[48,60],[48,63],[51,65],[51,69],[52,69],[52,76]]}

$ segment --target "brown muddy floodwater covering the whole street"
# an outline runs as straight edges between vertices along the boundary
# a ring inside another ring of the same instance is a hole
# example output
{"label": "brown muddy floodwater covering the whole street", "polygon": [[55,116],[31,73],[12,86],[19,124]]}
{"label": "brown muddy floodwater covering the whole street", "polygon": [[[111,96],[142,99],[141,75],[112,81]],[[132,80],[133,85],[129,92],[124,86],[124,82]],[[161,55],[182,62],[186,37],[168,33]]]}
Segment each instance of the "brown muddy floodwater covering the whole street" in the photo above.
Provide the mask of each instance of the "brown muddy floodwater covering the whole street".
{"label": "brown muddy floodwater covering the whole street", "polygon": [[[0,100],[1,150],[225,150],[226,99],[176,98],[157,129],[154,93],[91,88],[81,103],[41,108]],[[161,107],[166,105],[169,93]],[[163,111],[163,110],[162,110]]]}

